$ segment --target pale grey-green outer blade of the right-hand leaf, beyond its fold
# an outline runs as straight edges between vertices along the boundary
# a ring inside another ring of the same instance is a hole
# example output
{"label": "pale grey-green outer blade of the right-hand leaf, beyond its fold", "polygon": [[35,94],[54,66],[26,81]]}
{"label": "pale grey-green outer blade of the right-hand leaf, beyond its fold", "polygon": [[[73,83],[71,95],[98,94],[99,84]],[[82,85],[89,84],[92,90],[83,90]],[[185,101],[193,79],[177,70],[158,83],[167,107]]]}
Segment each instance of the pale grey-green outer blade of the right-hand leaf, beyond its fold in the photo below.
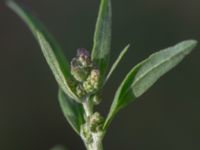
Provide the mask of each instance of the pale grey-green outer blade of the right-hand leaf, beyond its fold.
{"label": "pale grey-green outer blade of the right-hand leaf, beyond its fold", "polygon": [[161,76],[179,64],[196,45],[196,41],[188,40],[151,55],[137,72],[130,90],[136,97],[141,96]]}

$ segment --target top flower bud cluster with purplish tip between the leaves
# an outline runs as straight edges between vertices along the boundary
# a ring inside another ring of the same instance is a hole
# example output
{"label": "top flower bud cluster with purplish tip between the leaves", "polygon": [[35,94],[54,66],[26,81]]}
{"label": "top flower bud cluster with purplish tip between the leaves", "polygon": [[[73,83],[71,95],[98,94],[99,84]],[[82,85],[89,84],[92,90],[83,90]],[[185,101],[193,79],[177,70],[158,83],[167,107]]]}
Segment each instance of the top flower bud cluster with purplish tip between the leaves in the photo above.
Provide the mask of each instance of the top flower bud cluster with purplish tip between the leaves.
{"label": "top flower bud cluster with purplish tip between the leaves", "polygon": [[71,61],[71,74],[77,81],[75,93],[79,98],[94,94],[99,89],[100,71],[91,61],[86,49],[78,49]]}

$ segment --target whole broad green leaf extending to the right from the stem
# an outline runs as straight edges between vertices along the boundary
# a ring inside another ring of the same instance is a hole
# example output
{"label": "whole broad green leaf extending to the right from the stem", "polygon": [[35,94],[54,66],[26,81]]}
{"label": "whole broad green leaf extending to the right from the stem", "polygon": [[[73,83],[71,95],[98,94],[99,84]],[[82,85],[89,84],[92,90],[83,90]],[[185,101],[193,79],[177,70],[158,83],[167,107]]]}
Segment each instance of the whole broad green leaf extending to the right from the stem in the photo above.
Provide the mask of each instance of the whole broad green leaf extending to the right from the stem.
{"label": "whole broad green leaf extending to the right from the stem", "polygon": [[104,124],[106,129],[115,114],[146,92],[161,76],[179,64],[197,45],[197,41],[183,41],[154,53],[135,66],[119,86]]}

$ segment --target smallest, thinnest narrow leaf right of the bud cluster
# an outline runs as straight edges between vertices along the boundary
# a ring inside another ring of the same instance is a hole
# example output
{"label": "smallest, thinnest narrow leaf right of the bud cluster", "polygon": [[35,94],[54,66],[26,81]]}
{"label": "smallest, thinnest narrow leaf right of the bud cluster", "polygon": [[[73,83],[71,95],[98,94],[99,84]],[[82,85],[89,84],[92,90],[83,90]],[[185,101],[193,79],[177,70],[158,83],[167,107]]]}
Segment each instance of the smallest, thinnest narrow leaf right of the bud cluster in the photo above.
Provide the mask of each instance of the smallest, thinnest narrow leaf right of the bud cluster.
{"label": "smallest, thinnest narrow leaf right of the bud cluster", "polygon": [[[120,63],[121,59],[124,57],[124,55],[126,54],[126,52],[128,51],[130,45],[127,45],[119,54],[119,56],[117,57],[116,61],[113,63],[107,77],[106,77],[106,81],[108,81],[108,79],[110,78],[110,76],[112,75],[112,73],[114,72],[114,70],[116,69],[116,67],[118,66],[118,64]],[[106,82],[105,81],[105,82]]]}

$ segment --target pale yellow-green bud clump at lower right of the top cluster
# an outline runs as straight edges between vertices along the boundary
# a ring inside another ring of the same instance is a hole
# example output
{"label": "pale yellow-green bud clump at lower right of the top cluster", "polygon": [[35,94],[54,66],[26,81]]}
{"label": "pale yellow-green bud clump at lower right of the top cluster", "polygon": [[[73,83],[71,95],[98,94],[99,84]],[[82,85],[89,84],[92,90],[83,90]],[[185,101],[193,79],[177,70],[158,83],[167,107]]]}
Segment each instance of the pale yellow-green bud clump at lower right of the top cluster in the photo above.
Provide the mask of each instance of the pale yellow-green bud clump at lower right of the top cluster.
{"label": "pale yellow-green bud clump at lower right of the top cluster", "polygon": [[98,69],[93,69],[90,72],[89,77],[83,83],[83,87],[87,93],[93,93],[99,88],[100,82],[100,71]]}

